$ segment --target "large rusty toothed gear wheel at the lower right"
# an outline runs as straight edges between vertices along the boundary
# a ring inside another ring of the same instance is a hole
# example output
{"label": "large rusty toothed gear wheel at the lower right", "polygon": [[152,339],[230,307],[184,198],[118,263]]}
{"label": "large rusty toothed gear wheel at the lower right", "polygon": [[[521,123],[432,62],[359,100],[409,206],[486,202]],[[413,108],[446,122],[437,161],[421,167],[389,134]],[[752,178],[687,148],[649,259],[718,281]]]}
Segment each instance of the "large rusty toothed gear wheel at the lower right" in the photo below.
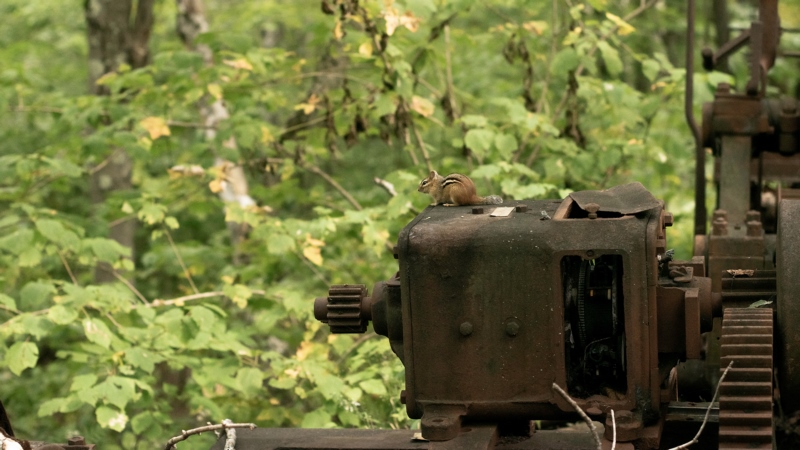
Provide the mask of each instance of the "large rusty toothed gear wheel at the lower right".
{"label": "large rusty toothed gear wheel at the lower right", "polygon": [[771,449],[772,309],[726,308],[720,368],[733,366],[720,384],[719,448]]}

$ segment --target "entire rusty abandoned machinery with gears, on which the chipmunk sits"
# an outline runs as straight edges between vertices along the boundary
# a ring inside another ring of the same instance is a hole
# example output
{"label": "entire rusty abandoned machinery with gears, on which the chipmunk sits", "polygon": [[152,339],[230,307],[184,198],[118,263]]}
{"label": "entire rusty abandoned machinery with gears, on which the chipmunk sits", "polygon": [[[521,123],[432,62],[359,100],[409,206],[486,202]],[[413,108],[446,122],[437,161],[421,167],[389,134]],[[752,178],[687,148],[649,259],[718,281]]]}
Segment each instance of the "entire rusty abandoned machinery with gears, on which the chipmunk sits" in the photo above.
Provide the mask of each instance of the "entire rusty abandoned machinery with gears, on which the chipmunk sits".
{"label": "entire rusty abandoned machinery with gears, on which the chipmunk sits", "polygon": [[[688,19],[692,73],[693,0]],[[750,53],[748,81],[740,91],[720,85],[702,127],[686,77],[698,187],[690,261],[673,260],[672,215],[638,183],[512,207],[429,207],[400,233],[394,277],[371,294],[332,286],[314,313],[334,333],[363,333],[371,321],[388,337],[406,368],[401,401],[430,442],[255,430],[242,433],[242,448],[594,448],[567,433],[530,434],[531,420],[576,417],[553,383],[605,422],[606,441],[613,409],[618,441],[659,448],[670,423],[702,420],[731,361],[710,405],[712,441],[773,448],[773,406],[800,409],[800,114],[796,99],[765,95],[779,30],[777,0],[761,0],[748,30],[702,52],[706,69]],[[718,198],[711,233],[707,147]],[[748,307],[757,300],[772,303]]]}

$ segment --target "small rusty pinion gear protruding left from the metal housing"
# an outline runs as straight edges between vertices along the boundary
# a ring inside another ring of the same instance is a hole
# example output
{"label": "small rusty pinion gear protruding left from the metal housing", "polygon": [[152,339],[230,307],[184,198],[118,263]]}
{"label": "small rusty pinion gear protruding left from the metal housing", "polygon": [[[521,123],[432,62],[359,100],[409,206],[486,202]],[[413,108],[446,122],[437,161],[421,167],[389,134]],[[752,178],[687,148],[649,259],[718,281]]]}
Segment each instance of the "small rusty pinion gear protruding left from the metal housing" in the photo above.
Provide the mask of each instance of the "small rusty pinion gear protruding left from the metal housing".
{"label": "small rusty pinion gear protruding left from the metal housing", "polygon": [[314,317],[331,333],[364,333],[370,320],[370,298],[363,284],[334,284],[327,297],[314,301]]}

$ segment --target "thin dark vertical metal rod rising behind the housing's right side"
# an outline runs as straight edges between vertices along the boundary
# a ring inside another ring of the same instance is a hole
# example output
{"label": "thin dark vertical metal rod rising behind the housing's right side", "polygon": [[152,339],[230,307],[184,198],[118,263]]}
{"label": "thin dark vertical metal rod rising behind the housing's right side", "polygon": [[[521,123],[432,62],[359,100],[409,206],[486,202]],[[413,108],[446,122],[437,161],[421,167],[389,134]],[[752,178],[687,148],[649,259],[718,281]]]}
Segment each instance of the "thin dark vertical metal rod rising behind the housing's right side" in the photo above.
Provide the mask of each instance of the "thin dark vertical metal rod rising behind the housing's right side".
{"label": "thin dark vertical metal rod rising behind the housing's right side", "polygon": [[706,153],[700,139],[700,128],[694,119],[694,21],[695,0],[689,0],[686,13],[686,96],[684,109],[686,122],[694,136],[694,234],[706,234]]}

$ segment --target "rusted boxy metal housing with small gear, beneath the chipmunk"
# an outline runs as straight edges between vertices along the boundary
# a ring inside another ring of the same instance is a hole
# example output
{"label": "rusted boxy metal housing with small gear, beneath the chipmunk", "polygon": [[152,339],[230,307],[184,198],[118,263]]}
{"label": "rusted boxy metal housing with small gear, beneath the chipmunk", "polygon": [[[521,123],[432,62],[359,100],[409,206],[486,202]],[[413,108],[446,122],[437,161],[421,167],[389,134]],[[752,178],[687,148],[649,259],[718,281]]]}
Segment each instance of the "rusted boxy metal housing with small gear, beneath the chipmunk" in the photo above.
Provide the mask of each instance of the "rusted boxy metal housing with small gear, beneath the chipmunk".
{"label": "rusted boxy metal housing with small gear, beneath the chipmunk", "polygon": [[429,207],[400,233],[395,277],[371,296],[332,286],[315,315],[334,332],[371,320],[390,338],[406,367],[401,400],[426,439],[457,438],[465,423],[575,418],[556,383],[597,420],[615,410],[619,441],[655,448],[675,358],[701,358],[715,312],[703,259],[666,251],[671,224],[639,183]]}

